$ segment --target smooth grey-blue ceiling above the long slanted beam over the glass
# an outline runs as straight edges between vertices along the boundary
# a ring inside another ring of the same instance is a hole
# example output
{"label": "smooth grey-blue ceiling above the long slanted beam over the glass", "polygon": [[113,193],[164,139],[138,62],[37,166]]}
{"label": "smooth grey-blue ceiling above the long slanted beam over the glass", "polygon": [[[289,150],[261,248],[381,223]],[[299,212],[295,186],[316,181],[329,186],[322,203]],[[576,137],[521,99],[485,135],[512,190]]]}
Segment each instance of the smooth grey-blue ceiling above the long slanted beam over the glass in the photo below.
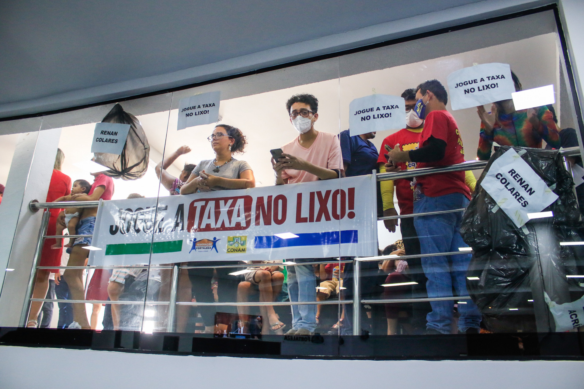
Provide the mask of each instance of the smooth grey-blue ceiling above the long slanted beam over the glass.
{"label": "smooth grey-blue ceiling above the long slanted beam over the glass", "polygon": [[478,0],[0,2],[0,111]]}

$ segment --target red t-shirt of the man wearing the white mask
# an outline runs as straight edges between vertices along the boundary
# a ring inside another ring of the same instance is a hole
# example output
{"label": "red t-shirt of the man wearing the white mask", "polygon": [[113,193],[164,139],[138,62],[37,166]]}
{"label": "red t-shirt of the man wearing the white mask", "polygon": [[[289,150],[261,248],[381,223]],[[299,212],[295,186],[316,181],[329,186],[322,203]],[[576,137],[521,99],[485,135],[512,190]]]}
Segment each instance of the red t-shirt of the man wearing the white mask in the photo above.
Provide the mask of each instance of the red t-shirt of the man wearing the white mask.
{"label": "red t-shirt of the man wearing the white mask", "polygon": [[[387,136],[387,138],[383,139],[383,143],[381,143],[381,152],[379,154],[379,159],[377,159],[377,163],[387,163],[387,159],[384,156],[384,154],[387,154],[385,145],[388,145],[393,149],[395,148],[395,145],[399,144],[399,149],[402,151],[415,150],[418,148],[421,135],[422,131],[420,131],[420,129],[412,131],[411,129],[403,128],[398,132]],[[400,162],[397,166],[401,167],[401,170],[416,169],[415,162]],[[413,184],[410,180],[413,180],[413,178],[399,178],[398,180],[394,180],[395,194],[398,197],[400,215],[409,215],[410,213],[413,213]]]}

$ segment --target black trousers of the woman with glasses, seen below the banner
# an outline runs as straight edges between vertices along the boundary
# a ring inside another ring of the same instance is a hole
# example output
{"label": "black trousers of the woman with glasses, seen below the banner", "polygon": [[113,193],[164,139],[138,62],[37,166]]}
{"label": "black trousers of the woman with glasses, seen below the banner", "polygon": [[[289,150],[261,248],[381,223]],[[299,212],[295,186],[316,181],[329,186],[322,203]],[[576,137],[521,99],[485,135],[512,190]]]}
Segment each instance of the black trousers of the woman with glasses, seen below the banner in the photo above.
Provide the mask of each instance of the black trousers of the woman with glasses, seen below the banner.
{"label": "black trousers of the woman with glasses, seen below the banner", "polygon": [[[189,262],[189,266],[224,266],[237,265],[238,261],[201,261]],[[218,268],[194,268],[188,269],[191,290],[197,303],[214,303],[213,289],[211,289],[211,279],[214,272],[217,272],[217,295],[221,303],[237,302],[237,286],[241,277],[230,275],[230,273],[244,268],[218,267]],[[221,307],[223,308],[223,307]],[[205,327],[215,325],[215,313],[217,306],[197,306],[201,314]]]}

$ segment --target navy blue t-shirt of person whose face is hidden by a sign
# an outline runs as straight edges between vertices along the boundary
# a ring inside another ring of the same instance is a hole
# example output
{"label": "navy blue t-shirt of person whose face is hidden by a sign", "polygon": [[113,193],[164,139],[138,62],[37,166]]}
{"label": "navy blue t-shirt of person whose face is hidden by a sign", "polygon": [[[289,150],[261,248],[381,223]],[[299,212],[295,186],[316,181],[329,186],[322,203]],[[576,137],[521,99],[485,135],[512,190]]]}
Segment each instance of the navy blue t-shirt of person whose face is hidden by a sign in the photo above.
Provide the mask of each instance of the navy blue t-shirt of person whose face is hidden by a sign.
{"label": "navy blue t-shirt of person whose face is hidden by a sign", "polygon": [[343,163],[347,164],[347,177],[363,176],[377,170],[379,152],[369,139],[364,141],[359,135],[350,136],[346,129],[339,134],[339,140]]}

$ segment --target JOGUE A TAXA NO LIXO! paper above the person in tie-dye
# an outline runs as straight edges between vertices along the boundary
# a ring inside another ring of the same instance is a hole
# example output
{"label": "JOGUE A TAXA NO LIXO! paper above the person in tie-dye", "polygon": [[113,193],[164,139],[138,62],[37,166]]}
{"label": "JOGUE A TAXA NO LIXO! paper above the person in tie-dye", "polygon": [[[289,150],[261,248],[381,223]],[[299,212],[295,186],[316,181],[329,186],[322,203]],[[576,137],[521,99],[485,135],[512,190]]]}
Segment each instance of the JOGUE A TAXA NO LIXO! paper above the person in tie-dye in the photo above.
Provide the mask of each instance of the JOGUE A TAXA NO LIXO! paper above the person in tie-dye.
{"label": "JOGUE A TAXA NO LIXO! paper above the person in tie-dye", "polygon": [[511,99],[515,85],[508,64],[482,64],[450,73],[448,76],[450,105],[462,110]]}

